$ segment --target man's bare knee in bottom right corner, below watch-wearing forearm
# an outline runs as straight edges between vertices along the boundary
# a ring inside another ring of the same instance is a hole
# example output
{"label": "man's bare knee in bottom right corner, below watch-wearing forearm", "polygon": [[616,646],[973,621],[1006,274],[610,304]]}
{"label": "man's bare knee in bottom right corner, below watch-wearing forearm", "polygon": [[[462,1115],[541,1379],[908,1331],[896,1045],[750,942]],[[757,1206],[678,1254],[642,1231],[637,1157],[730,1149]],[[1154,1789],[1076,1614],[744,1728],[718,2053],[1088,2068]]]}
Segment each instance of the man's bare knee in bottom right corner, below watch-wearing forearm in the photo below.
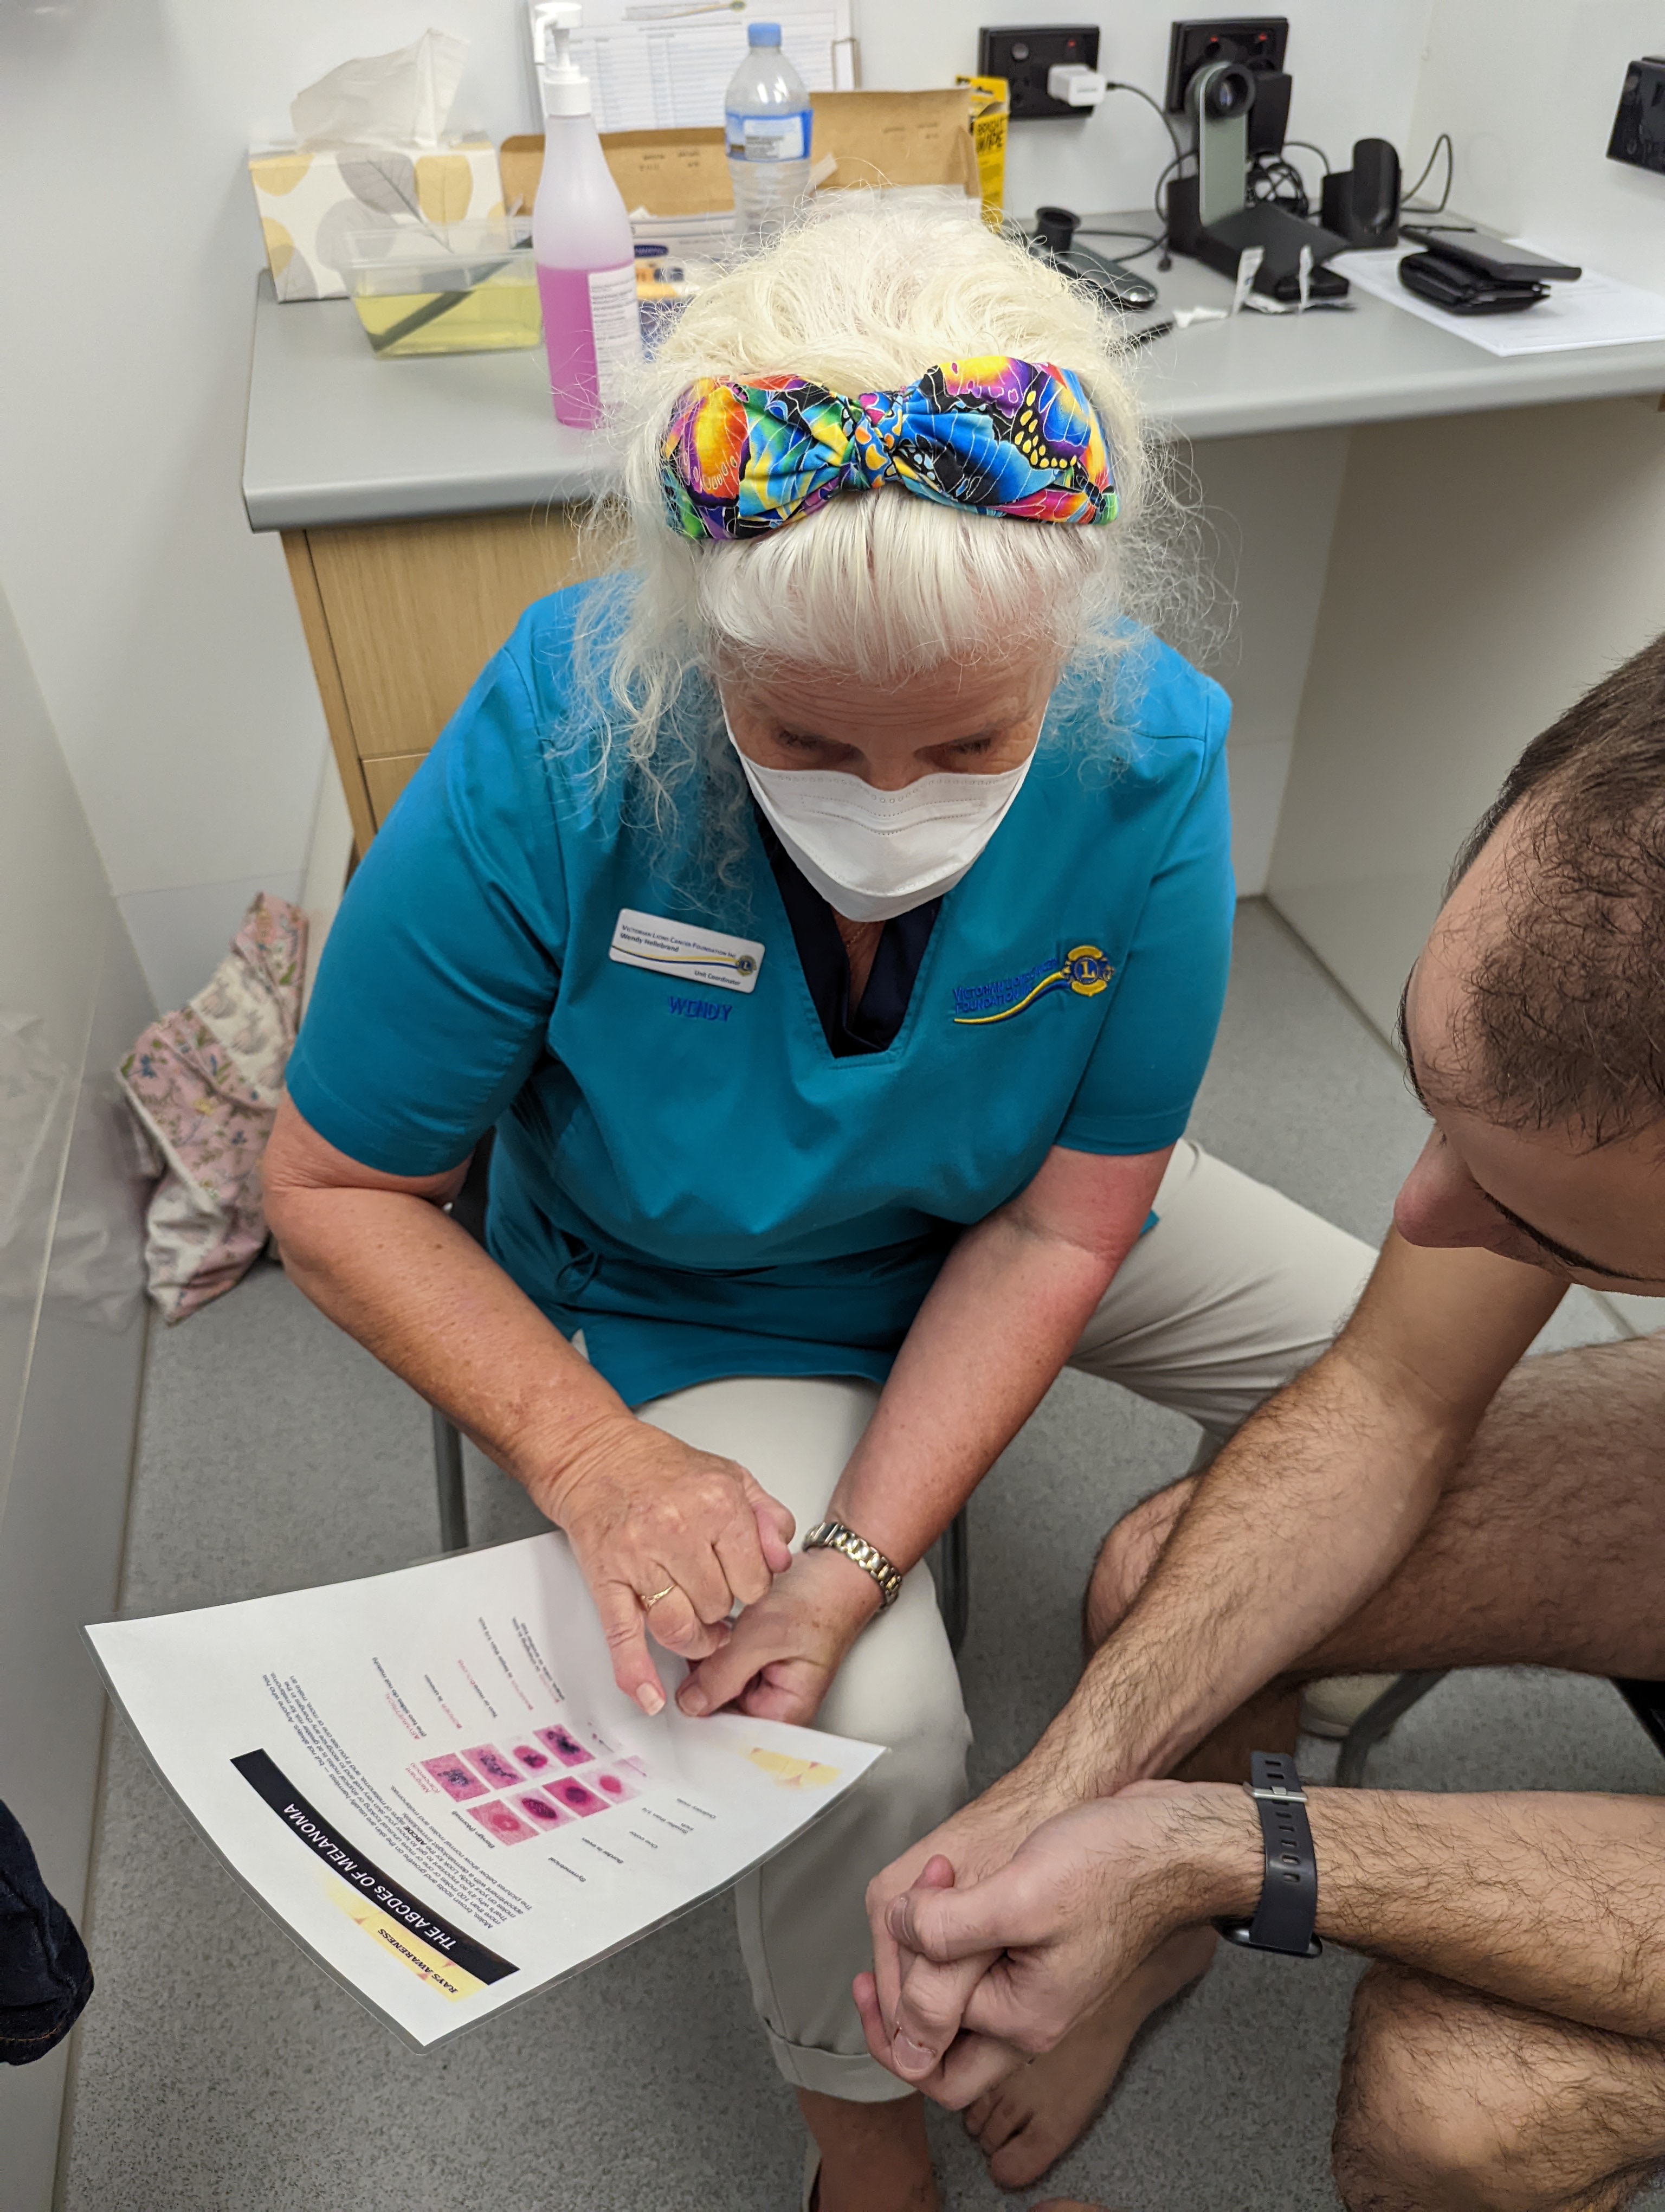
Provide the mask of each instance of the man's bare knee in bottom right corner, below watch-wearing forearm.
{"label": "man's bare knee in bottom right corner, below watch-wearing forearm", "polygon": [[1371,1966],[1336,2115],[1347,2212],[1619,2212],[1665,2161],[1665,2051]]}

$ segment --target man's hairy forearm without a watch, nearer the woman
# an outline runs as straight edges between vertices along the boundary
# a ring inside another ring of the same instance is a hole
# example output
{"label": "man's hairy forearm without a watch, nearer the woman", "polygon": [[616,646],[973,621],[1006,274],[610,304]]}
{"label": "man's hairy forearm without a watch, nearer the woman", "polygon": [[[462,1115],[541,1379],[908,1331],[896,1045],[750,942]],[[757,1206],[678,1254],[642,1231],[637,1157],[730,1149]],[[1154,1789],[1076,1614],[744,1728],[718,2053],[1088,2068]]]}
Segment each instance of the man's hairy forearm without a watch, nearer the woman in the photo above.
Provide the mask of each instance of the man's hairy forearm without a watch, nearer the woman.
{"label": "man's hairy forearm without a watch, nearer the woman", "polygon": [[1203,1475],[1128,1617],[1026,1761],[1028,1785],[1075,1803],[1172,1772],[1355,1613],[1426,1526],[1559,1296],[1490,1254],[1420,1254],[1389,1239],[1336,1347]]}

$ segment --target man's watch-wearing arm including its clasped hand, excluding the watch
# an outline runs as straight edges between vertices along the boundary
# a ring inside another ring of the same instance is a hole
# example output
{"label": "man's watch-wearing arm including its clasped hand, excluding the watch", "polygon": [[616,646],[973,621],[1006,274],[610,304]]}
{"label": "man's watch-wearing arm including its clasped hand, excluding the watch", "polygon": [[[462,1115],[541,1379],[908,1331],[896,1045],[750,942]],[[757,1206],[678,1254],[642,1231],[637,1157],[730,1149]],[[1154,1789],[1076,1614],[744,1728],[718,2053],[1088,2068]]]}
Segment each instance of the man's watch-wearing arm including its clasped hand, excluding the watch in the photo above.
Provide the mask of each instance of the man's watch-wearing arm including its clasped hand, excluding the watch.
{"label": "man's watch-wearing arm including its clasped hand, excluding the watch", "polygon": [[[1309,1792],[1318,1931],[1508,2004],[1665,2042],[1665,1805],[1630,1796]],[[973,1887],[889,1907],[911,1958],[869,2048],[966,2104],[1070,2026],[1181,1927],[1249,1916],[1260,1825],[1229,1783],[1141,1783],[1048,1820]],[[993,1958],[966,1986],[962,1964]],[[900,2064],[898,2064],[900,2062]]]}

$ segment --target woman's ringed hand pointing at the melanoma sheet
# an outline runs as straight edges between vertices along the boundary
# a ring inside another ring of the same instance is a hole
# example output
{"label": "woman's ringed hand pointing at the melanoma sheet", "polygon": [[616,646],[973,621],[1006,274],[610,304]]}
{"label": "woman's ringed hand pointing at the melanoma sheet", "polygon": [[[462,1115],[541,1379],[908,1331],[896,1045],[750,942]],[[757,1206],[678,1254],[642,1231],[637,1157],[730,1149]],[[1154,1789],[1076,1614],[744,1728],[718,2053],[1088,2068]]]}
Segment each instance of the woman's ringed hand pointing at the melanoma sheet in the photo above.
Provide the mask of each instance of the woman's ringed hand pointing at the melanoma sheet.
{"label": "woman's ringed hand pointing at the melanoma sheet", "polygon": [[663,1710],[666,1690],[646,1630],[703,1659],[727,1641],[734,1606],[765,1597],[792,1564],[792,1513],[736,1460],[635,1416],[595,1422],[557,1473],[524,1480],[584,1568],[612,1679],[648,1714]]}

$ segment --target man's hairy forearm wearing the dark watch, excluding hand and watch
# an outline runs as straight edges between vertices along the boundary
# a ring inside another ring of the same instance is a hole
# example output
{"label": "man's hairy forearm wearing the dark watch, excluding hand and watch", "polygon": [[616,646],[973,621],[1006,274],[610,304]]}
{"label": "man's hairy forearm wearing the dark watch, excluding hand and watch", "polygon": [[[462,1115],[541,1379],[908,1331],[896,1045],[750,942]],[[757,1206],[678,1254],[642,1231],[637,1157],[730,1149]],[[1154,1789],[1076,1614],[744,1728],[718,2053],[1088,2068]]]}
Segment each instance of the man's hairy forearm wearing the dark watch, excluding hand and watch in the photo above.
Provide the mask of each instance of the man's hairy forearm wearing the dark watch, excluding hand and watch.
{"label": "man's hairy forearm wearing the dark watch, excluding hand and watch", "polygon": [[[1318,1933],[1508,2004],[1665,2039],[1665,1805],[1630,1796],[1311,1790]],[[1247,1792],[1172,1809],[1190,1916],[1252,1913]]]}

